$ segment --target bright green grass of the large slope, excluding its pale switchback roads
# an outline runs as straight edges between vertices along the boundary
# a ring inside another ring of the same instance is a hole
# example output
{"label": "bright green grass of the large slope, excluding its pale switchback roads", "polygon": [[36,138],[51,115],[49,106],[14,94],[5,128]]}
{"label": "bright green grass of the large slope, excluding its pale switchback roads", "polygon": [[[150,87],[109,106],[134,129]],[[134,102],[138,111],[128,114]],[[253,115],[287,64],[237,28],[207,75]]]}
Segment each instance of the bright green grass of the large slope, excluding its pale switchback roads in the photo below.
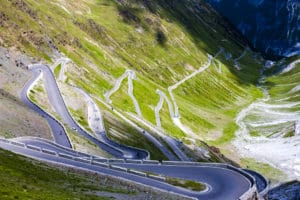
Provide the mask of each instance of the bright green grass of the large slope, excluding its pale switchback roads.
{"label": "bright green grass of the large slope, excluding its pale switchback roads", "polygon": [[[78,66],[68,69],[68,81],[101,98],[125,68],[135,70],[134,94],[144,118],[152,123],[157,88],[166,91],[202,66],[206,54],[216,53],[220,46],[234,58],[244,49],[243,42],[234,33],[228,34],[231,27],[216,13],[191,1],[136,0],[127,5],[108,0],[24,2],[1,0],[0,11],[8,17],[0,28],[5,44],[44,60],[53,54],[49,46],[55,46]],[[20,34],[12,34],[15,32]],[[157,39],[160,32],[166,38],[163,42]],[[260,66],[251,57],[250,52],[240,61],[242,70],[238,71],[221,56],[222,74],[211,66],[175,90],[182,122],[204,139],[230,141],[232,135],[229,139],[221,136],[227,135],[235,113],[259,96],[253,84]],[[134,112],[132,106],[126,106],[131,105],[126,90],[124,85],[114,94],[113,106]],[[184,136],[172,124],[166,108],[161,119],[168,134]]]}

